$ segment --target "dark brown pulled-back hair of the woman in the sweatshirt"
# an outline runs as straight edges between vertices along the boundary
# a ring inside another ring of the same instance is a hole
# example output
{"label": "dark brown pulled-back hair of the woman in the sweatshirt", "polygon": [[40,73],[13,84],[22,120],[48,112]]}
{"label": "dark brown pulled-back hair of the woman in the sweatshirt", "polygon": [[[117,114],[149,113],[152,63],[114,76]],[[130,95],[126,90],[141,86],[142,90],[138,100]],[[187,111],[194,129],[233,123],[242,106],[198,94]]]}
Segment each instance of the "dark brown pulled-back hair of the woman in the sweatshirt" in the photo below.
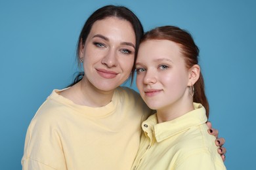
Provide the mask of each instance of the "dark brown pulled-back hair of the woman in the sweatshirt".
{"label": "dark brown pulled-back hair of the woman in the sweatshirt", "polygon": [[[76,50],[76,56],[77,56],[77,63],[80,65],[79,62],[79,50],[81,45],[85,44],[85,41],[91,31],[91,27],[93,24],[98,21],[98,20],[104,20],[105,18],[108,17],[117,17],[120,18],[121,20],[127,20],[128,22],[131,23],[133,30],[135,31],[135,38],[136,38],[136,44],[135,44],[135,61],[137,59],[137,53],[139,49],[139,43],[140,39],[144,34],[144,30],[142,27],[142,24],[140,23],[139,18],[129,9],[123,6],[115,6],[115,5],[107,5],[104,6],[98,10],[95,10],[91,16],[87,19],[85,22],[85,25],[83,25],[83,29],[81,30],[81,33],[79,35],[79,38],[77,40],[77,50]],[[125,31],[125,30],[123,30]],[[133,75],[135,72],[135,64],[133,65],[132,73],[131,73],[131,82],[133,82]],[[83,78],[84,73],[80,72],[76,77],[75,80],[70,86],[73,86],[77,82]]]}

